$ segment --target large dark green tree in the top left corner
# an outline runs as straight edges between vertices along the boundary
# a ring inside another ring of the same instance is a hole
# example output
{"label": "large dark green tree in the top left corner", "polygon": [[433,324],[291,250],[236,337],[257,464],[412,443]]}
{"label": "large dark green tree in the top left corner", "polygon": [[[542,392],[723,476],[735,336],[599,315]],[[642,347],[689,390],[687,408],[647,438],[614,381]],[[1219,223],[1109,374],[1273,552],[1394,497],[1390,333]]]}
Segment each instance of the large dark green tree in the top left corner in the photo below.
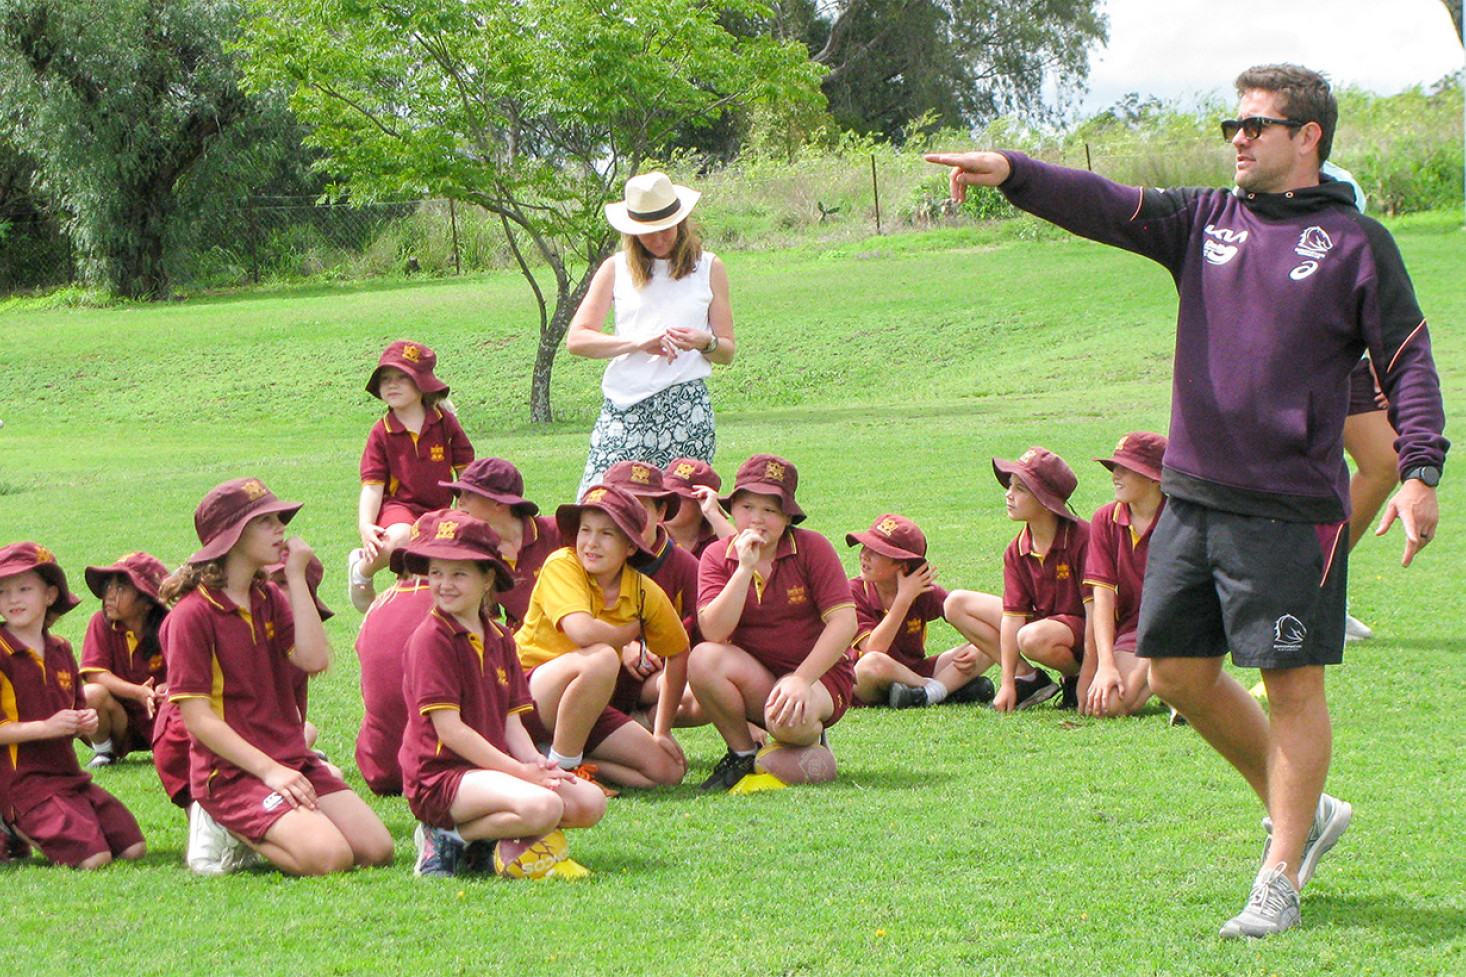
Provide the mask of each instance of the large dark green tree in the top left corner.
{"label": "large dark green tree in the top left corner", "polygon": [[0,133],[35,160],[82,274],[164,298],[174,189],[249,111],[232,0],[0,0]]}

